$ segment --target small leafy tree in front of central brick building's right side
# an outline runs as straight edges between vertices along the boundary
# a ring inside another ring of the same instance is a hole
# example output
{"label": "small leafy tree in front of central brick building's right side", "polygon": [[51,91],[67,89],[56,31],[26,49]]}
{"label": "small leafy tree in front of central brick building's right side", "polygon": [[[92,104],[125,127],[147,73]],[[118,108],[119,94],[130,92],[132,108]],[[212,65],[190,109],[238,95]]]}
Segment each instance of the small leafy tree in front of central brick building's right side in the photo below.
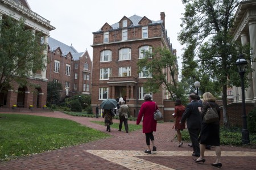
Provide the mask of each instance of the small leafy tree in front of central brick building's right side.
{"label": "small leafy tree in front of central brick building's right side", "polygon": [[[160,47],[142,51],[142,53],[145,54],[145,57],[137,62],[139,66],[138,73],[147,70],[150,77],[143,84],[143,87],[147,91],[155,93],[159,92],[159,87],[163,84],[163,90],[170,93],[172,100],[183,97],[185,94],[184,88],[178,86],[175,78],[178,74],[177,57],[169,49]],[[167,77],[168,74],[170,77]]]}

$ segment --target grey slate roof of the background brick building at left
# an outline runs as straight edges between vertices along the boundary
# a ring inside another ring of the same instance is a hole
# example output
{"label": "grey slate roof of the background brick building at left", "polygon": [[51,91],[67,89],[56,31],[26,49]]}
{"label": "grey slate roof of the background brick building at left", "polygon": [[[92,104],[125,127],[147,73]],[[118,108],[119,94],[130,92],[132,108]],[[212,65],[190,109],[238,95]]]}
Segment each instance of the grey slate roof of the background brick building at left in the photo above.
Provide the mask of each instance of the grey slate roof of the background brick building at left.
{"label": "grey slate roof of the background brick building at left", "polygon": [[73,55],[73,53],[78,53],[77,50],[72,45],[68,46],[68,45],[64,44],[63,42],[53,39],[52,37],[49,37],[48,45],[50,48],[49,50],[51,50],[51,51],[54,51],[58,47],[60,47],[63,54],[67,54],[67,53],[71,52],[71,54]]}

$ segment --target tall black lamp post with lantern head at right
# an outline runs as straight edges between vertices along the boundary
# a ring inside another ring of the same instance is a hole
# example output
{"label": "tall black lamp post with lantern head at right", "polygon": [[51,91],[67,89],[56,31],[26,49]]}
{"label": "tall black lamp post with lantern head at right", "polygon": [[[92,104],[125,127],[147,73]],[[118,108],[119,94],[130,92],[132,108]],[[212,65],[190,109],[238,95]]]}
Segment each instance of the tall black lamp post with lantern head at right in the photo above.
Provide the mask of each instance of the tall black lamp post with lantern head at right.
{"label": "tall black lamp post with lantern head at right", "polygon": [[246,59],[243,57],[243,54],[239,54],[238,59],[236,61],[236,65],[238,68],[238,73],[241,78],[241,88],[242,88],[242,111],[243,111],[243,127],[242,127],[242,143],[249,144],[250,137],[249,137],[249,130],[247,130],[247,116],[245,112],[245,84],[243,80],[243,76],[245,75],[245,68],[247,65]]}

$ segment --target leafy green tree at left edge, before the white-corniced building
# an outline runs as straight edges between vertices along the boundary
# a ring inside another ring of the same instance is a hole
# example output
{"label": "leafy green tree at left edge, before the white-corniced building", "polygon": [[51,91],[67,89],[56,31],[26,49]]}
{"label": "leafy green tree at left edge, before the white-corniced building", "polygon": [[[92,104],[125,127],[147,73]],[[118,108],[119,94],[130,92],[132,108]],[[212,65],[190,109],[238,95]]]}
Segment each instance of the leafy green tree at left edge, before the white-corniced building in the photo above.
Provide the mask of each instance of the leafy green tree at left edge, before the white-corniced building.
{"label": "leafy green tree at left edge, before the white-corniced building", "polygon": [[24,19],[8,16],[0,20],[0,92],[11,82],[26,84],[27,77],[45,69],[41,37],[25,28]]}

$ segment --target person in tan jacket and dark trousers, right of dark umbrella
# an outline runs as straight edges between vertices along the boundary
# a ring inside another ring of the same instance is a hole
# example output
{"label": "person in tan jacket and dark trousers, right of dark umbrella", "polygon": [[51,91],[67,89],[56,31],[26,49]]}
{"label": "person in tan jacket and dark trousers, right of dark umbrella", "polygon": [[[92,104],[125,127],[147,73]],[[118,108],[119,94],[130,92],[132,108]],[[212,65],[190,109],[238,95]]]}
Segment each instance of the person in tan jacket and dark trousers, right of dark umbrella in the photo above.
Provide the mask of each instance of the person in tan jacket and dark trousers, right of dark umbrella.
{"label": "person in tan jacket and dark trousers, right of dark umbrella", "polygon": [[128,105],[125,104],[125,101],[122,100],[121,101],[121,106],[119,108],[119,118],[120,118],[120,122],[119,122],[119,131],[122,130],[122,126],[123,124],[125,124],[125,131],[126,133],[128,133],[129,128],[128,128]]}

